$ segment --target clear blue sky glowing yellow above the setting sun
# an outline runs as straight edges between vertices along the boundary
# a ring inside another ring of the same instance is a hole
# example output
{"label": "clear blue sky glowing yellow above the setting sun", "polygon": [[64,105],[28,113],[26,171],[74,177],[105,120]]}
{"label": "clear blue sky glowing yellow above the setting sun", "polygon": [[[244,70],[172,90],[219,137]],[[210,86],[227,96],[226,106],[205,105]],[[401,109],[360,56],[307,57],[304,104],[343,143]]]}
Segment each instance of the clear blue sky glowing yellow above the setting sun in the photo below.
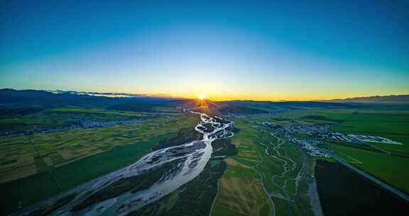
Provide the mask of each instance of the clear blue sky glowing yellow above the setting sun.
{"label": "clear blue sky glowing yellow above the setting sun", "polygon": [[214,99],[409,94],[406,2],[1,1],[0,87]]}

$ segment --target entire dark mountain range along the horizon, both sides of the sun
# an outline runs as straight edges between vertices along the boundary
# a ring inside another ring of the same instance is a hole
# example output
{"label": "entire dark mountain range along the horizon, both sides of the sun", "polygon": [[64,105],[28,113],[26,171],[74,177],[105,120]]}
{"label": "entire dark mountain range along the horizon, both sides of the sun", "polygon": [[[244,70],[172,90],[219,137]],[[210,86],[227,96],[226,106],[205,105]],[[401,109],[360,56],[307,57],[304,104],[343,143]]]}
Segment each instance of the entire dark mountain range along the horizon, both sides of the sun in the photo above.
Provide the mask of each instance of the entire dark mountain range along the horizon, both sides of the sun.
{"label": "entire dark mountain range along the horizon, both sides of the sun", "polygon": [[[374,106],[408,106],[409,95],[391,95],[382,97],[356,97],[332,99],[328,101],[252,101],[233,100],[224,102],[204,101],[207,112],[222,114],[265,114],[283,112],[290,109],[339,109]],[[38,112],[55,107],[92,107],[129,112],[156,112],[158,107],[175,109],[200,107],[203,101],[169,97],[168,95],[136,95],[122,93],[13,90],[0,89],[0,114]]]}

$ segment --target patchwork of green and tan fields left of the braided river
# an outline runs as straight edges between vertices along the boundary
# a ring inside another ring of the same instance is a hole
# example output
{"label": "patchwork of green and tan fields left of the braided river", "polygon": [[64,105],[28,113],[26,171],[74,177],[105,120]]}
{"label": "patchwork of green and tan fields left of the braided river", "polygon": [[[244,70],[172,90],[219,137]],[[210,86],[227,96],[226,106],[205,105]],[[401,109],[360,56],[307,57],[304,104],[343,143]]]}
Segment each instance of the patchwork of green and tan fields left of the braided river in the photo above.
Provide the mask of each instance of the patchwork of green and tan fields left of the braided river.
{"label": "patchwork of green and tan fields left of the braided river", "polygon": [[[155,118],[138,124],[3,137],[2,214],[61,193],[133,163],[160,140],[197,118]],[[4,211],[4,212],[3,212]]]}

